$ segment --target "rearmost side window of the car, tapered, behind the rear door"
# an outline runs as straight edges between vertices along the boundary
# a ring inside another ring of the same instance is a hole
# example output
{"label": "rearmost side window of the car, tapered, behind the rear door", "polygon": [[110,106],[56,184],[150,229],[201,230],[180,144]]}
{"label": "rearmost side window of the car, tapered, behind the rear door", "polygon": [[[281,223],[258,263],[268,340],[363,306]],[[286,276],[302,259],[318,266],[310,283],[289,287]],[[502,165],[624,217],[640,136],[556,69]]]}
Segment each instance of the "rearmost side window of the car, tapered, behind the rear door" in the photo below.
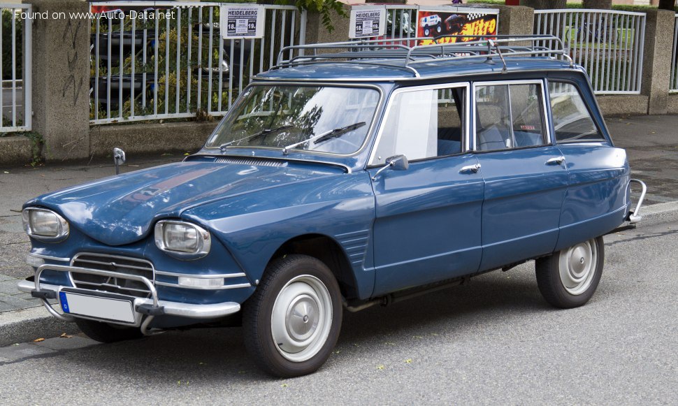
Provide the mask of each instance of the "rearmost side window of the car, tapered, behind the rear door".
{"label": "rearmost side window of the car, tapered, behind the rear door", "polygon": [[556,142],[605,140],[575,85],[549,82]]}

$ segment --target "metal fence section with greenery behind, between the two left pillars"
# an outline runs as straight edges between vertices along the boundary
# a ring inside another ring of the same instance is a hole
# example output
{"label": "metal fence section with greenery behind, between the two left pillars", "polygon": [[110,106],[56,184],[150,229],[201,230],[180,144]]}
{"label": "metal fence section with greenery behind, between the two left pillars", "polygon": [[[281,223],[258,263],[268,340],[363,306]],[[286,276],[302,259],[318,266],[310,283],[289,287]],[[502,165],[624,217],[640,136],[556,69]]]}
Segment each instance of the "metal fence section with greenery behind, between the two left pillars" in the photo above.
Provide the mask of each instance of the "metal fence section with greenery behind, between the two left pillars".
{"label": "metal fence section with greenery behind, between the two left pillars", "polygon": [[[147,8],[143,1],[101,3]],[[250,79],[305,42],[306,13],[266,5],[264,38],[224,40],[222,3],[155,1],[148,14],[96,13],[92,20],[90,122],[224,115]],[[173,17],[167,18],[168,10]]]}

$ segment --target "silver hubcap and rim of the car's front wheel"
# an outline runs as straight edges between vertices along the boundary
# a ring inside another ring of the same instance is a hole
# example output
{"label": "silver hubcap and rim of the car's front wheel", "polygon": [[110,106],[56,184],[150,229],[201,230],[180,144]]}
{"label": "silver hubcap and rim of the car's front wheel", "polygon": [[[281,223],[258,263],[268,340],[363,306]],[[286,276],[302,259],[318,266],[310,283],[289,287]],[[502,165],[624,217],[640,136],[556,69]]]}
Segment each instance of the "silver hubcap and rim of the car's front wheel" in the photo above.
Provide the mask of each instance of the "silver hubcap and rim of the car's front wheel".
{"label": "silver hubcap and rim of the car's front wheel", "polygon": [[271,313],[271,335],[277,350],[289,361],[315,356],[332,326],[332,300],[317,277],[301,275],[280,290]]}

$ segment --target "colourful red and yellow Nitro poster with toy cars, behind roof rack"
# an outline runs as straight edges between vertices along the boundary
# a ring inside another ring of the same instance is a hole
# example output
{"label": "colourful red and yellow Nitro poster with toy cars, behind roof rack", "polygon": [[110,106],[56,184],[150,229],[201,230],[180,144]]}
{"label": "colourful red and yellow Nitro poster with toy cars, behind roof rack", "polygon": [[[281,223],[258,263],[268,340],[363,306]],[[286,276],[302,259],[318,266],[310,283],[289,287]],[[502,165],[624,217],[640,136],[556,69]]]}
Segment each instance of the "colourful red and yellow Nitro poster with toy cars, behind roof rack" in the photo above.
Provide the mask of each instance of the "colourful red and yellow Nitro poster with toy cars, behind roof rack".
{"label": "colourful red and yellow Nitro poster with toy cars, behind roof rack", "polygon": [[499,25],[499,10],[495,8],[421,8],[417,13],[418,45],[436,43],[440,36],[468,35],[467,38],[445,37],[437,43],[475,41],[474,36],[496,35]]}

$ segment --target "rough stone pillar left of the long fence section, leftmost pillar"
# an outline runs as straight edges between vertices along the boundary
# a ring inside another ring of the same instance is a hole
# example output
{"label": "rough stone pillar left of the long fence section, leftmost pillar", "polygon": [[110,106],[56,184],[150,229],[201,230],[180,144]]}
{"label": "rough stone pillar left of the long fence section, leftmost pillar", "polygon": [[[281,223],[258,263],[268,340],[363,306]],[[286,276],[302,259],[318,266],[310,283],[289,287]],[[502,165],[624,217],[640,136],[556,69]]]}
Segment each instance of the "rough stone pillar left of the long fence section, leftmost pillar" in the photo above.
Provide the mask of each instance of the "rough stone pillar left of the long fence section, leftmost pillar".
{"label": "rough stone pillar left of the long fence section, leftmost pillar", "polygon": [[[81,0],[27,0],[33,12],[33,130],[48,161],[89,156],[89,19]],[[43,18],[46,17],[46,18]]]}

